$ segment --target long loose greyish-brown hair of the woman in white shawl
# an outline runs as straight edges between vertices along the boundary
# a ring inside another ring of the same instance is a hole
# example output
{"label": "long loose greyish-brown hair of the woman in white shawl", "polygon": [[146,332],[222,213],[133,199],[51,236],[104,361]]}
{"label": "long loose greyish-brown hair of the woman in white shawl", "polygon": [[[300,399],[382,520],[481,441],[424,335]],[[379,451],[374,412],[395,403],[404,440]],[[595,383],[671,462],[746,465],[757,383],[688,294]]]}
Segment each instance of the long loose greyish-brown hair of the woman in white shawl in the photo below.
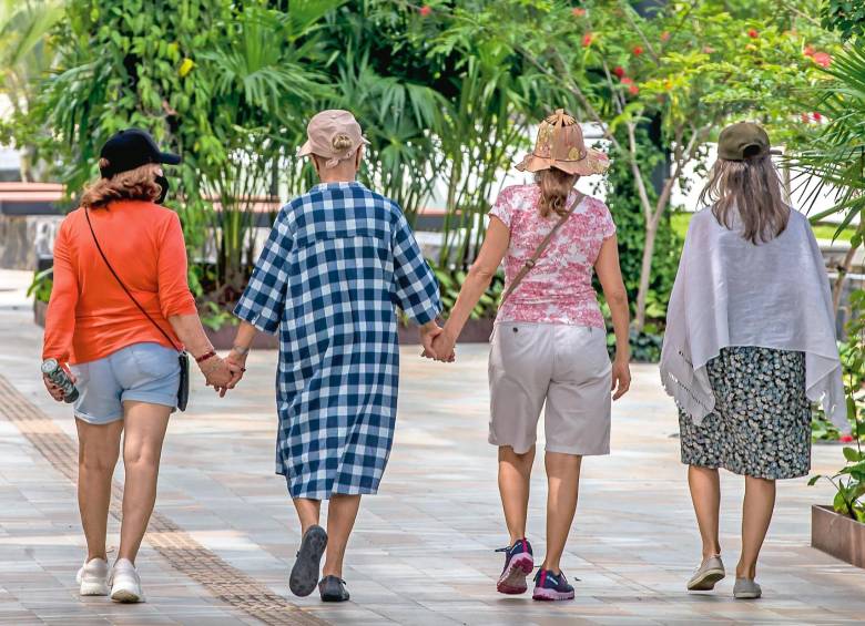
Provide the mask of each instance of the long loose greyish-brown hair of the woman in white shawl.
{"label": "long loose greyish-brown hair of the woman in white shawl", "polygon": [[742,237],[754,245],[781,235],[790,220],[790,207],[781,197],[781,179],[767,154],[744,161],[715,161],[700,193],[700,204],[711,204],[715,219],[731,230],[737,212]]}

